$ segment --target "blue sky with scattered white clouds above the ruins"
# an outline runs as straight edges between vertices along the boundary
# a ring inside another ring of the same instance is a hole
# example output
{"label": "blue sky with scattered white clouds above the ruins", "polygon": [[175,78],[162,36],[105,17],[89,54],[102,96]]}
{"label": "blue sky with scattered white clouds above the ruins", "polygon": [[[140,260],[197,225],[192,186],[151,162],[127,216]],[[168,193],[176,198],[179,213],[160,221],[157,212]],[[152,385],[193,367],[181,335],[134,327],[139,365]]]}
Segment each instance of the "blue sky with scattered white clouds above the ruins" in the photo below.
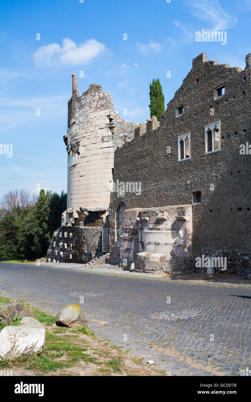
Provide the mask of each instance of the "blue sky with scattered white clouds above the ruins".
{"label": "blue sky with scattered white clouds above the ruins", "polygon": [[[245,68],[250,16],[251,0],[1,0],[0,144],[12,144],[12,157],[0,155],[0,196],[37,185],[66,191],[73,72],[80,94],[100,84],[123,118],[143,122],[152,79],[167,104],[200,53]],[[202,29],[226,31],[226,45],[196,42]]]}

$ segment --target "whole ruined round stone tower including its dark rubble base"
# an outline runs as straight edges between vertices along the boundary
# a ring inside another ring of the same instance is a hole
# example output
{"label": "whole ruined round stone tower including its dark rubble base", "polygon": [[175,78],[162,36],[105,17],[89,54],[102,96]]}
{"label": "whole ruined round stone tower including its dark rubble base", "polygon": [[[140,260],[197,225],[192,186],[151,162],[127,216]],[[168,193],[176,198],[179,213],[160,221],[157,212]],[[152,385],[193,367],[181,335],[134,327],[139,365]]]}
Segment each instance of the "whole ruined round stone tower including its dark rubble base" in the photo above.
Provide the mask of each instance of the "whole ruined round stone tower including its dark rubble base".
{"label": "whole ruined round stone tower including its dark rubble base", "polygon": [[73,94],[68,100],[68,129],[64,135],[67,209],[50,242],[48,261],[86,263],[97,252],[102,229],[109,227],[114,151],[117,144],[133,138],[135,124],[121,119],[113,109],[111,95],[100,85],[90,85],[79,96],[77,76],[72,77]]}

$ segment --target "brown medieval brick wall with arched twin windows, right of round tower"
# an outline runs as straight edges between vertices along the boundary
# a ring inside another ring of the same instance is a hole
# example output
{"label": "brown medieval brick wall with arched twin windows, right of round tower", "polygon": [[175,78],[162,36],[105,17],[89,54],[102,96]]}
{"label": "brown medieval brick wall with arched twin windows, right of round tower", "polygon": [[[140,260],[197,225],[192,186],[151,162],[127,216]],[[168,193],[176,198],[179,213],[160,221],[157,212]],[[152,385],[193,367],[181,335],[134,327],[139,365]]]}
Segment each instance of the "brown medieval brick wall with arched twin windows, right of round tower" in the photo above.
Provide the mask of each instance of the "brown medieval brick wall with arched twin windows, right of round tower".
{"label": "brown medieval brick wall with arched twin windows, right of round tower", "polygon": [[[138,128],[131,142],[116,149],[114,181],[141,182],[141,195],[125,192],[124,197],[118,198],[116,192],[111,194],[110,242],[115,257],[115,219],[120,205],[146,208],[191,204],[193,255],[208,250],[211,255],[228,255],[230,260],[235,256],[239,262],[245,258],[248,272],[251,155],[241,155],[239,151],[241,144],[251,144],[250,57],[247,55],[243,71],[228,64],[207,62],[205,53],[196,57],[161,115],[160,127],[148,127],[146,133],[143,127],[139,133]],[[214,90],[220,85],[225,86],[225,94],[215,98]],[[176,117],[180,106],[184,113]],[[220,151],[205,154],[204,127],[218,121]],[[178,136],[186,133],[191,136],[191,158],[178,161]],[[201,203],[194,202],[193,193],[198,191]]]}

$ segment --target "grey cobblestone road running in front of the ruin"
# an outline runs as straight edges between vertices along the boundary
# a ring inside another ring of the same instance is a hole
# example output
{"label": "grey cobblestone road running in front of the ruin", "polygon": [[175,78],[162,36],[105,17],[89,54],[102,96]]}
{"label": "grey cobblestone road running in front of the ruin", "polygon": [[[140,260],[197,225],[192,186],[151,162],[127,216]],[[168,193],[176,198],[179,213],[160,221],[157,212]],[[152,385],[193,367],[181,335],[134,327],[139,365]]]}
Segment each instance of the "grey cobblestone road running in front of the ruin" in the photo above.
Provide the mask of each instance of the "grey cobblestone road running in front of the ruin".
{"label": "grey cobblestone road running in front of the ruin", "polygon": [[170,375],[251,369],[251,287],[0,263],[2,295],[55,314],[80,304],[88,328]]}

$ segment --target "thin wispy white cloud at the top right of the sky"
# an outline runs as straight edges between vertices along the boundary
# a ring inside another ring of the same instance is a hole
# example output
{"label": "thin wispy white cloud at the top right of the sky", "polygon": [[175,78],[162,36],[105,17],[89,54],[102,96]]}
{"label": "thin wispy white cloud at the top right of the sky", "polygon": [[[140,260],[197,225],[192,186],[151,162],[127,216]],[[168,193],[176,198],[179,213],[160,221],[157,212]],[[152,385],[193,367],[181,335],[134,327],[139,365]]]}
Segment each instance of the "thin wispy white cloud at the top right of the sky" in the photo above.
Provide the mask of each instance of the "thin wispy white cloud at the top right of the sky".
{"label": "thin wispy white cloud at the top right of the sky", "polygon": [[206,21],[212,31],[224,31],[238,22],[238,18],[222,9],[218,0],[185,0],[184,4],[191,9],[193,16]]}

